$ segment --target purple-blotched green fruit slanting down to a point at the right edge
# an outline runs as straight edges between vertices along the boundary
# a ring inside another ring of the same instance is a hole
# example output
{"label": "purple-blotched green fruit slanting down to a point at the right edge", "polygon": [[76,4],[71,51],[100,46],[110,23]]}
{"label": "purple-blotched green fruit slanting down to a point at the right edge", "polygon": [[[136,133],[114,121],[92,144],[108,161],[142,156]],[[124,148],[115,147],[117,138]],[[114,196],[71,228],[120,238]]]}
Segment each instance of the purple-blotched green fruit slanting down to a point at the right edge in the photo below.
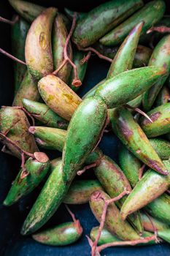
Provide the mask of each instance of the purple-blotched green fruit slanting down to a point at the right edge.
{"label": "purple-blotched green fruit slanting down to a point at the right edge", "polygon": [[126,108],[120,107],[109,112],[113,132],[120,138],[121,142],[138,159],[144,162],[158,173],[167,174],[166,167],[160,157],[152,148],[150,141],[142,131],[139,124],[134,121],[131,112]]}

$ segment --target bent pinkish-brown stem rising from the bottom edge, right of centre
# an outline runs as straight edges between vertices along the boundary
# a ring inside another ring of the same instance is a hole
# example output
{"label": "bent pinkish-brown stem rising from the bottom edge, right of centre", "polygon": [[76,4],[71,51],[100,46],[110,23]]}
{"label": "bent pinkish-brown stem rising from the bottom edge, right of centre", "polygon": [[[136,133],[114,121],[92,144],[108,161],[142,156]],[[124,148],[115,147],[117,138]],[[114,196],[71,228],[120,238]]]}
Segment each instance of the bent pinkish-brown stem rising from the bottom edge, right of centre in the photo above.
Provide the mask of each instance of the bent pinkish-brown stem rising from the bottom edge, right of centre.
{"label": "bent pinkish-brown stem rising from the bottom edge, right of centre", "polygon": [[111,198],[109,200],[104,200],[104,208],[103,208],[103,212],[101,214],[101,222],[100,222],[100,226],[98,228],[98,234],[96,236],[95,241],[93,242],[93,246],[92,246],[92,249],[91,249],[91,256],[95,256],[96,246],[98,244],[98,240],[101,237],[101,232],[104,228],[104,222],[105,222],[105,219],[106,219],[107,207],[109,206],[109,203],[113,203],[117,200],[120,200],[120,198],[122,198],[124,195],[128,195],[128,194],[129,194],[129,192],[125,189],[125,190],[123,190],[123,192],[120,193],[120,195],[117,195],[117,197]]}

